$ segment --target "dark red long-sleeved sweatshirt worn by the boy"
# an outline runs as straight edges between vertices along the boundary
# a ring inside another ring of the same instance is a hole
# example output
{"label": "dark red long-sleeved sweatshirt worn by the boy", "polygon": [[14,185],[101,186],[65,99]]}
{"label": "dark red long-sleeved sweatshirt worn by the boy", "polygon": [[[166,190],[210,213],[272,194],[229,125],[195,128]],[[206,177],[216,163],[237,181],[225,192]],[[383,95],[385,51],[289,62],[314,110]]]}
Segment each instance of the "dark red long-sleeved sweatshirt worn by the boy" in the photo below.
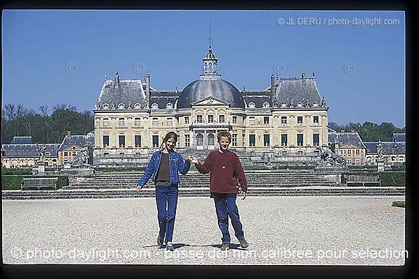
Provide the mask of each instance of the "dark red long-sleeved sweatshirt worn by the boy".
{"label": "dark red long-sleeved sweatshirt worn by the boy", "polygon": [[239,186],[242,191],[247,192],[247,181],[244,176],[242,164],[236,153],[226,151],[221,153],[219,150],[212,151],[205,159],[205,163],[196,164],[196,169],[201,174],[210,174],[210,193],[231,193],[238,194]]}

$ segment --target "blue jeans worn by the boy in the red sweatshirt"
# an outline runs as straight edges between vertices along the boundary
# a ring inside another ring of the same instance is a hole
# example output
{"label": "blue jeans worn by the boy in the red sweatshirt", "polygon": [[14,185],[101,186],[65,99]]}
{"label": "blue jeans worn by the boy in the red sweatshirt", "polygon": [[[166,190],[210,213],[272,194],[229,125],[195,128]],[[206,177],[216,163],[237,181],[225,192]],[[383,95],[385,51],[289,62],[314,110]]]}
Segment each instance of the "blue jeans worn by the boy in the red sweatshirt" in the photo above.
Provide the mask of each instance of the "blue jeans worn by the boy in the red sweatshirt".
{"label": "blue jeans worn by the boy in the red sweatshirt", "polygon": [[219,228],[223,234],[223,244],[230,243],[230,233],[228,232],[228,216],[230,216],[231,224],[235,231],[237,239],[244,239],[242,223],[240,223],[239,209],[235,203],[234,197],[214,197],[216,218],[218,219]]}

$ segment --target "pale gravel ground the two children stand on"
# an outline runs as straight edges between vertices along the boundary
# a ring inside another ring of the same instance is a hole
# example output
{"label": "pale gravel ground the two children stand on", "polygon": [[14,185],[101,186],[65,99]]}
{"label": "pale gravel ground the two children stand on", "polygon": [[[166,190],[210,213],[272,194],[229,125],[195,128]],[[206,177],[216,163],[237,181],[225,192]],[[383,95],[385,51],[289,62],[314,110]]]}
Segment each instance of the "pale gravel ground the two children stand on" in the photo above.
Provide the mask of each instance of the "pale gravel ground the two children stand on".
{"label": "pale gravel ground the two children stand on", "polygon": [[249,248],[221,232],[209,197],[179,197],[174,252],[156,245],[154,197],[3,200],[5,264],[403,265],[398,196],[237,199]]}

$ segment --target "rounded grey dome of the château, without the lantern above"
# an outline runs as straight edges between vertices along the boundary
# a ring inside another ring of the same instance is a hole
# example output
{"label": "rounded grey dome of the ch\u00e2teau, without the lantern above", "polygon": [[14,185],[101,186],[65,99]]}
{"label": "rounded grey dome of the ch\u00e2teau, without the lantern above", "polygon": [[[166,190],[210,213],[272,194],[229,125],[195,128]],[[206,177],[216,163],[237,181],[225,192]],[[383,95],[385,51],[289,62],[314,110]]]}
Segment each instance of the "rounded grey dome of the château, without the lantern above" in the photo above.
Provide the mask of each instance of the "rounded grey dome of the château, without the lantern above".
{"label": "rounded grey dome of the ch\u00e2teau, without the lantern above", "polygon": [[221,78],[200,78],[188,84],[179,94],[177,108],[189,108],[191,103],[214,97],[230,104],[230,107],[244,108],[242,93],[233,84]]}

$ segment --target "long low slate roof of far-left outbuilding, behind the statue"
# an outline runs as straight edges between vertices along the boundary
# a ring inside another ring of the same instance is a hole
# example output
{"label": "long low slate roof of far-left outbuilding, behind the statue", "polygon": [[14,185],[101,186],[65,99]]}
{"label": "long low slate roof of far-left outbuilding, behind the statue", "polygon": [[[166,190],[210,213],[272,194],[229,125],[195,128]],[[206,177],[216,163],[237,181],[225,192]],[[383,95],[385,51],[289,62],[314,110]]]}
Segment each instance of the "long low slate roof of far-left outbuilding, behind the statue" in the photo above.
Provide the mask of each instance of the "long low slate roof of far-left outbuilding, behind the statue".
{"label": "long low slate roof of far-left outbuilding, behind the statue", "polygon": [[[59,144],[45,144],[45,158],[58,157]],[[38,158],[36,144],[3,144],[3,158]],[[48,153],[49,152],[49,153]]]}

